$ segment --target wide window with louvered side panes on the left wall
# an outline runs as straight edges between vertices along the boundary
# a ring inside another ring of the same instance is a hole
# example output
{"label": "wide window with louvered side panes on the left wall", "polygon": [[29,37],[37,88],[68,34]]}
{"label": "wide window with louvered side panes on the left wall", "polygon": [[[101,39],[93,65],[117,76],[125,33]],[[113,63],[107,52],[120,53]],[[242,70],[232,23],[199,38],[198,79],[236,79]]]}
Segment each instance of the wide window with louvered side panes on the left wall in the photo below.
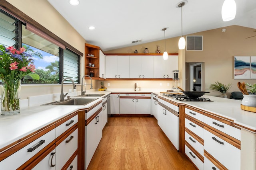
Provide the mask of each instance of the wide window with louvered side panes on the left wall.
{"label": "wide window with louvered side panes on the left wall", "polygon": [[[19,38],[18,33],[22,38]],[[62,49],[63,47],[60,48],[29,31],[25,24],[2,10],[0,10],[0,44],[15,48],[22,46],[32,55],[36,74],[40,76],[40,80],[26,76],[22,84],[60,84],[62,79],[67,77],[79,83],[79,55],[68,49]]]}

